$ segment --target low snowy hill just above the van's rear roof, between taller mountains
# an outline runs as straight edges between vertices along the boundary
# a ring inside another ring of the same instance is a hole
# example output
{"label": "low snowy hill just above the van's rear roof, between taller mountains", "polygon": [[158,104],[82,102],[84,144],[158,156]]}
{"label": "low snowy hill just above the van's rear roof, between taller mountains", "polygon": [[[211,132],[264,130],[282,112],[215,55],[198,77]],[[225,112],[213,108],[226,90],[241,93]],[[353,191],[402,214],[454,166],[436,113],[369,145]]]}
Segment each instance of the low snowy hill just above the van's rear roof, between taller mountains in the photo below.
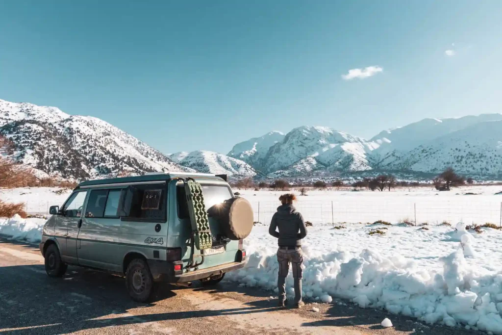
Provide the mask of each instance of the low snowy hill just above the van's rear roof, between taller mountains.
{"label": "low snowy hill just above the van's rear roof, between taller mountains", "polygon": [[248,178],[256,175],[255,169],[246,162],[212,151],[179,152],[168,157],[173,162],[198,172],[227,174],[233,178]]}

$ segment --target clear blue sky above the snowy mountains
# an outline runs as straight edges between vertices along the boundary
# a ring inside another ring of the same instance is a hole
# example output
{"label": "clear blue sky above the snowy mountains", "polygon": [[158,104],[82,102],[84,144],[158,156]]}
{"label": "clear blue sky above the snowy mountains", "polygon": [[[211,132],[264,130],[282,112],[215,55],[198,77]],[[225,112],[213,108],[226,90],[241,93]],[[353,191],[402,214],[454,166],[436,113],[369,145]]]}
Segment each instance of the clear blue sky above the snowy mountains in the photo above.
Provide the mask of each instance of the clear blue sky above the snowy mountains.
{"label": "clear blue sky above the snowy mountains", "polygon": [[0,13],[0,98],[98,117],[164,153],[226,153],[302,125],[370,138],[502,105],[498,0],[26,0]]}

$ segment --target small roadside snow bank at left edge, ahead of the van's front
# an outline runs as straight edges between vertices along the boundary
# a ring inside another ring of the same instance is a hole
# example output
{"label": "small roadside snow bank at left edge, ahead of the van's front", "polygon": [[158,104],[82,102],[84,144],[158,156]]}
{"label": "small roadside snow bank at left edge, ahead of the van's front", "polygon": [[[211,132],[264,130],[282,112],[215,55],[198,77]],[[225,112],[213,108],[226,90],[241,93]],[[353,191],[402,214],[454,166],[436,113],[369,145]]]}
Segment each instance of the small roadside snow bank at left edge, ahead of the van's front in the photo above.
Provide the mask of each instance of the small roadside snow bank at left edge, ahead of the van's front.
{"label": "small roadside snow bank at left edge, ahead of the van's front", "polygon": [[40,242],[45,222],[44,218],[22,218],[16,214],[11,218],[0,219],[0,235],[13,240]]}

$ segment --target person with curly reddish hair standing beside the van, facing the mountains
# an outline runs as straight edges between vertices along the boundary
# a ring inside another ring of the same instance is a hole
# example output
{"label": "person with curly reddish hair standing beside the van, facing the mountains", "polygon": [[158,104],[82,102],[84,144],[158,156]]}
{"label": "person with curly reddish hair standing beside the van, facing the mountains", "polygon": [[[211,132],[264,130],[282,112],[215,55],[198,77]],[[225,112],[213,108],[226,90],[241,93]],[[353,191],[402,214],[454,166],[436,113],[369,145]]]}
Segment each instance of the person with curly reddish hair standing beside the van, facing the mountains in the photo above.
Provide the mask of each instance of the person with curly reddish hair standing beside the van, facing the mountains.
{"label": "person with curly reddish hair standing beside the van, facing the mountains", "polygon": [[[293,206],[296,196],[293,193],[283,194],[279,200],[282,205],[277,207],[277,212],[272,216],[269,228],[269,234],[279,239],[279,250],[277,251],[279,306],[283,307],[286,302],[286,277],[289,273],[289,263],[293,263],[295,306],[300,308],[304,305],[302,301],[303,253],[301,241],[307,236],[307,229],[302,214],[297,212]],[[276,229],[279,229],[279,233]]]}

